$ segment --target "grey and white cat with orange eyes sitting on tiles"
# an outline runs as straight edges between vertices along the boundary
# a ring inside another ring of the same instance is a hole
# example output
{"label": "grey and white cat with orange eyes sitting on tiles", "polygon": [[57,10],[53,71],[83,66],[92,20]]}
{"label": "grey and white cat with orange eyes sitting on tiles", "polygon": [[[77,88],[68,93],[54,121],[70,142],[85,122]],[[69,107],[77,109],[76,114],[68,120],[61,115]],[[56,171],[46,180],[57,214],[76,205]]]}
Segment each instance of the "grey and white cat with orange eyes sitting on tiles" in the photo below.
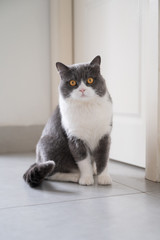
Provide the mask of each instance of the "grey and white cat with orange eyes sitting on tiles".
{"label": "grey and white cat with orange eyes sitting on tiles", "polygon": [[66,66],[57,62],[59,105],[36,146],[36,163],[24,180],[36,187],[44,179],[81,185],[108,185],[112,99],[100,73],[101,57]]}

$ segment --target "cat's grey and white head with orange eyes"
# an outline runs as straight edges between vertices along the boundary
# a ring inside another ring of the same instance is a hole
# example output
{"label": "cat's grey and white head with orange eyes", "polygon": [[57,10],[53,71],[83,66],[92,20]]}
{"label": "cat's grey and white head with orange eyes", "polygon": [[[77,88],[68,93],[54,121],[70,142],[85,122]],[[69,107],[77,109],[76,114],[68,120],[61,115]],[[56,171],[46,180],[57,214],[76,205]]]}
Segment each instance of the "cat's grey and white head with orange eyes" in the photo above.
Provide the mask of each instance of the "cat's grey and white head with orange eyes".
{"label": "cat's grey and white head with orange eyes", "polygon": [[100,63],[100,56],[90,63],[71,66],[57,62],[56,67],[61,77],[60,94],[63,98],[89,101],[95,97],[103,97],[107,89],[100,73]]}

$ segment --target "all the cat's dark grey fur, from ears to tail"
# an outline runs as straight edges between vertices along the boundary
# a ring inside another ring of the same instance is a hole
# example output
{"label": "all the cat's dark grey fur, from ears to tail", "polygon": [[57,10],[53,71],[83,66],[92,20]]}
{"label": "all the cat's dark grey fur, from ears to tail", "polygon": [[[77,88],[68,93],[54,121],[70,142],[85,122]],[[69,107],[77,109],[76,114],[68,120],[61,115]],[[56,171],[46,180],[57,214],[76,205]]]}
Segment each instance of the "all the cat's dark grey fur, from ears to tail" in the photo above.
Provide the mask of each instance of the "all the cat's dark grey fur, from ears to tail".
{"label": "all the cat's dark grey fur, from ears to tail", "polygon": [[[83,81],[87,85],[89,77],[94,78],[94,83],[90,86],[101,97],[107,91],[105,80],[100,74],[99,56],[94,58],[90,64],[72,65],[70,67],[57,63],[56,67],[61,76],[60,91],[67,98],[74,87],[69,86],[69,81],[74,79],[77,86]],[[107,91],[108,92],[108,91]],[[109,96],[109,93],[108,93]],[[109,96],[110,99],[110,96]],[[96,117],[96,116],[95,116]],[[68,137],[63,129],[62,116],[59,106],[48,120],[42,136],[36,148],[36,163],[33,164],[24,174],[24,180],[31,186],[38,186],[46,176],[60,173],[71,173],[78,170],[77,162],[86,158],[90,152],[96,162],[97,172],[100,174],[107,164],[110,149],[110,136],[104,136],[94,151],[76,137]],[[50,162],[48,162],[50,161]],[[51,161],[54,161],[52,164]],[[48,164],[46,164],[48,162]]]}

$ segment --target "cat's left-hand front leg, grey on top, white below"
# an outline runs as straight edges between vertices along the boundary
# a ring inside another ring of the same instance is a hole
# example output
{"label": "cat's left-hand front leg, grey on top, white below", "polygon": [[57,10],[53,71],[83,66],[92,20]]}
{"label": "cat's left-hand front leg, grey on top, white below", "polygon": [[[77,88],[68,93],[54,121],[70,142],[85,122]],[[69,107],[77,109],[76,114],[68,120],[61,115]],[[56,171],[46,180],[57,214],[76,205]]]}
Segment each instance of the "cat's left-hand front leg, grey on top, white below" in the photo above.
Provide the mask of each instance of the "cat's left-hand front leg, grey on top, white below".
{"label": "cat's left-hand front leg, grey on top, white below", "polygon": [[91,157],[82,140],[72,138],[69,140],[70,151],[80,171],[79,184],[92,185],[94,183]]}

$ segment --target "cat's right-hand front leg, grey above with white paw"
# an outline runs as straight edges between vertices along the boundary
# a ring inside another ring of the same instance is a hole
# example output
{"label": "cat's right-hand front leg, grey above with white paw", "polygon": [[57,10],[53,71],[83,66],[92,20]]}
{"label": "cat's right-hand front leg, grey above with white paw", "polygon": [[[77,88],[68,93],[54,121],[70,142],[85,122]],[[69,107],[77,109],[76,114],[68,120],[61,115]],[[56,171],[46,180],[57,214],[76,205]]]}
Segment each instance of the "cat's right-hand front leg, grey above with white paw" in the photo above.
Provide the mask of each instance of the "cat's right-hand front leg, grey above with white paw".
{"label": "cat's right-hand front leg, grey above with white paw", "polygon": [[98,184],[110,185],[112,179],[108,173],[108,160],[110,150],[110,136],[104,136],[100,141],[98,147],[94,151],[94,157],[97,168]]}

